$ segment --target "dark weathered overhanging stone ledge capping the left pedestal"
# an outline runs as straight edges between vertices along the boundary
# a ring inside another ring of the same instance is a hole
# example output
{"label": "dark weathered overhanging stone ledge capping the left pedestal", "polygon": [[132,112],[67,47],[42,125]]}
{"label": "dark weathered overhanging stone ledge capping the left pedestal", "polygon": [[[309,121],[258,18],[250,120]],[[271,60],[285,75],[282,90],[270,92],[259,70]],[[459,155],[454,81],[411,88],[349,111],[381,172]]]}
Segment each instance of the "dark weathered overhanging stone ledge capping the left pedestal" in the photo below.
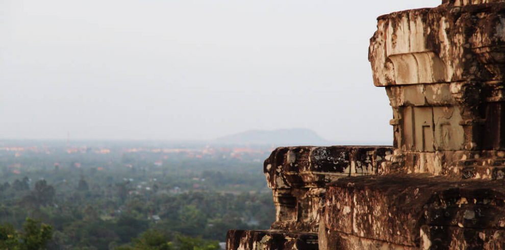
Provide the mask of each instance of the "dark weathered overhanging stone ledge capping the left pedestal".
{"label": "dark weathered overhanging stone ledge capping the left pedestal", "polygon": [[376,174],[390,146],[278,147],[265,160],[270,188],[322,187],[348,176]]}

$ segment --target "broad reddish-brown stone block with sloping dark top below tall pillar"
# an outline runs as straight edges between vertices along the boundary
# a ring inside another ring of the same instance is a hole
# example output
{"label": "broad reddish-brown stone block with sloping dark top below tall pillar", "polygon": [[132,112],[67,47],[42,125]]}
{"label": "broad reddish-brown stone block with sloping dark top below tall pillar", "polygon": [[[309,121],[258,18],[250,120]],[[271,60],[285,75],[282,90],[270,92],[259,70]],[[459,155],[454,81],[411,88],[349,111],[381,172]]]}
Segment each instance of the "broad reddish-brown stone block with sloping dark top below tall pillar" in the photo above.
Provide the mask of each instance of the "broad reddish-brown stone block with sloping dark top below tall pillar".
{"label": "broad reddish-brown stone block with sloping dark top below tall pillar", "polygon": [[[441,234],[451,239],[454,233],[460,242],[473,242],[473,233],[481,232],[489,240],[490,233],[498,233],[501,238],[492,240],[501,240],[505,247],[505,183],[454,181],[425,174],[343,178],[331,183],[326,192],[322,223],[331,244],[363,245],[366,238],[371,242],[367,244],[436,247]],[[424,235],[422,227],[428,227]],[[471,230],[470,238],[465,230]]]}

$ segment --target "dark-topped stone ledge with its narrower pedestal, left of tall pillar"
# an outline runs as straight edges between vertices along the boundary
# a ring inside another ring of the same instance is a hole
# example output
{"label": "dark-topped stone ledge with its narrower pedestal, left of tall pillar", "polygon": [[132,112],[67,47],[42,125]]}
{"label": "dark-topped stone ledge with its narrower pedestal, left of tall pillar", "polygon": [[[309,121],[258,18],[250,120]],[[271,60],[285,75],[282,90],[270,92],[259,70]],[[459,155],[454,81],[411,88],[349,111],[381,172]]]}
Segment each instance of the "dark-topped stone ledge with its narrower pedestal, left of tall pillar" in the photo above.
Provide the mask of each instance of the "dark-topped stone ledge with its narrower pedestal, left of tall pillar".
{"label": "dark-topped stone ledge with its narrower pedestal, left of tall pillar", "polygon": [[276,210],[272,229],[317,232],[326,184],[380,172],[392,150],[387,146],[276,148],[263,169]]}

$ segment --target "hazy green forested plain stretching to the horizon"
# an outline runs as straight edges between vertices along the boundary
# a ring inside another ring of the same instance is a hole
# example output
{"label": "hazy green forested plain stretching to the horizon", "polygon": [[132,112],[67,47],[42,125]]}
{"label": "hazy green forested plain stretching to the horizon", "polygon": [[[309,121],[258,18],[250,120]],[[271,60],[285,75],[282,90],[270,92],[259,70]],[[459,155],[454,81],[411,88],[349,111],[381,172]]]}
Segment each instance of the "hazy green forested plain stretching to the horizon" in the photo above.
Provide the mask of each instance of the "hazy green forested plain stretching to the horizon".
{"label": "hazy green forested plain stretching to the horizon", "polygon": [[0,248],[219,249],[274,220],[270,149],[0,142]]}

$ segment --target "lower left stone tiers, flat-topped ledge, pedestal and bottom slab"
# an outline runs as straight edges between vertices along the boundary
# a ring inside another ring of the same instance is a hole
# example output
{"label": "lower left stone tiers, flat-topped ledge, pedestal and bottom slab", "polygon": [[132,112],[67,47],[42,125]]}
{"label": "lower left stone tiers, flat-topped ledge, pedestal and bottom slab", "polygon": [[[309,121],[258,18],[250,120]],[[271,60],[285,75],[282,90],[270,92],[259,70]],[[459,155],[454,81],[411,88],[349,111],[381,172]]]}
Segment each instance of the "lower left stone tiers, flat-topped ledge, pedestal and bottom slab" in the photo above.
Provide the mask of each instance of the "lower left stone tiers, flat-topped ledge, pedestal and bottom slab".
{"label": "lower left stone tiers, flat-topped ledge, pedestal and bottom slab", "polygon": [[317,232],[326,184],[382,172],[388,146],[276,148],[264,173],[276,210],[270,230],[231,230],[226,249],[318,249]]}

